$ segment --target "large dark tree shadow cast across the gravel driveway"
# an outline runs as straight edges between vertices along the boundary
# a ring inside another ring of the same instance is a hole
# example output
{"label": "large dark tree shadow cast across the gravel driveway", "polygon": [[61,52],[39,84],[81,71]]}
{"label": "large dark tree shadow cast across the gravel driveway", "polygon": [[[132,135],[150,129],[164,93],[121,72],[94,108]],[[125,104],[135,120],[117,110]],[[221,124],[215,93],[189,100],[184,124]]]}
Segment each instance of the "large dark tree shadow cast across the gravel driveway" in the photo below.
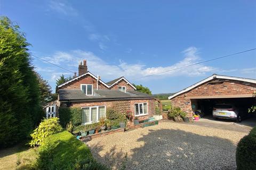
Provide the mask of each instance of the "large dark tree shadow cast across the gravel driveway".
{"label": "large dark tree shadow cast across the gravel driveway", "polygon": [[[236,169],[236,146],[226,139],[161,129],[150,130],[137,141],[145,145],[131,149],[126,169]],[[125,153],[113,147],[102,158],[97,154],[101,145],[91,148],[94,157],[120,169]]]}

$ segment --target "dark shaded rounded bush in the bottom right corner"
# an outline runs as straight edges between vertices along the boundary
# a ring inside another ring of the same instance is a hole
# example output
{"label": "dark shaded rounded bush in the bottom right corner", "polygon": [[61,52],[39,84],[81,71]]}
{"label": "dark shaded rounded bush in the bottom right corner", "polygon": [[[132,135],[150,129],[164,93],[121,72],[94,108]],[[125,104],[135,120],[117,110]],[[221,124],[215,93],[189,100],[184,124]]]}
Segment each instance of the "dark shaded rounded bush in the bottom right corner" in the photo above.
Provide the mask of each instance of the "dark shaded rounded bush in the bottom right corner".
{"label": "dark shaded rounded bush in the bottom right corner", "polygon": [[256,126],[242,138],[236,149],[237,169],[256,169]]}

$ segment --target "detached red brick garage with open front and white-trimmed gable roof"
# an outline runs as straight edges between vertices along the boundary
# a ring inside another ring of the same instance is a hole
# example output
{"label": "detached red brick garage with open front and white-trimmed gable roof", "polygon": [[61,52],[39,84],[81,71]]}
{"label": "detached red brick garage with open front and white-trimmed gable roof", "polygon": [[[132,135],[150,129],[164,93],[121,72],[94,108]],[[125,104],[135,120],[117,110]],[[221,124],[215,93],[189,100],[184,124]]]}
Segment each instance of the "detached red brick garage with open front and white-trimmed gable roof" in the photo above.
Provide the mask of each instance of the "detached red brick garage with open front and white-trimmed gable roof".
{"label": "detached red brick garage with open front and white-trimmed gable roof", "polygon": [[[180,107],[192,117],[199,110],[202,117],[212,117],[216,107],[226,107],[226,110],[244,118],[249,118],[248,108],[255,105],[256,80],[213,74],[211,77],[197,82],[169,97],[173,106]],[[222,110],[223,111],[223,110]],[[225,115],[225,113],[221,113]],[[228,114],[228,113],[227,113]],[[220,116],[235,120],[236,116]],[[237,117],[238,118],[238,117]]]}

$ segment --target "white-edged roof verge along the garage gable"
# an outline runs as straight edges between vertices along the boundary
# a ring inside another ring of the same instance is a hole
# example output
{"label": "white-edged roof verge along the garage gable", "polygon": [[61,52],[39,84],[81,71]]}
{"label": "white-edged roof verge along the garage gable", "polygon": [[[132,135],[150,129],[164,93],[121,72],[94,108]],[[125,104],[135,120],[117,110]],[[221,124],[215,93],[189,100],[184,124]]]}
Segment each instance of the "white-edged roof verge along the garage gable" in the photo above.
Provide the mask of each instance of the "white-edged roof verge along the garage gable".
{"label": "white-edged roof verge along the garage gable", "polygon": [[203,83],[205,83],[207,81],[213,80],[213,79],[238,80],[238,81],[245,81],[245,82],[250,82],[250,83],[255,83],[256,84],[256,80],[255,79],[247,79],[247,78],[232,77],[232,76],[227,76],[227,75],[213,74],[209,78],[206,78],[206,79],[204,79],[202,81],[199,81],[199,82],[193,84],[192,86],[189,86],[186,89],[183,89],[183,90],[173,94],[172,96],[169,96],[168,99],[170,100],[170,99],[172,99],[172,98],[174,98],[174,97],[176,97],[176,96],[178,96],[180,94],[183,94],[183,92],[187,92],[187,91],[189,91],[189,90],[191,90],[191,89],[193,89],[193,88],[195,88],[195,87],[197,87],[197,86],[199,86],[199,85],[201,85],[201,84],[203,84]]}

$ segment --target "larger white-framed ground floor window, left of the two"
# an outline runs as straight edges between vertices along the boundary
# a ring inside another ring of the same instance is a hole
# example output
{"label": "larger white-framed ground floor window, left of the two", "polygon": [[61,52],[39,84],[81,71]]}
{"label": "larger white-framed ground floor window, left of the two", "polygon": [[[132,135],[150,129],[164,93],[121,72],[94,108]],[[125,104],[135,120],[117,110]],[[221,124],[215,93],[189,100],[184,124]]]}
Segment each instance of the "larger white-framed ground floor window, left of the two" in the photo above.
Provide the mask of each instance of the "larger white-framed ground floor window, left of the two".
{"label": "larger white-framed ground floor window, left of the two", "polygon": [[98,122],[101,117],[106,117],[106,106],[82,107],[82,124]]}

